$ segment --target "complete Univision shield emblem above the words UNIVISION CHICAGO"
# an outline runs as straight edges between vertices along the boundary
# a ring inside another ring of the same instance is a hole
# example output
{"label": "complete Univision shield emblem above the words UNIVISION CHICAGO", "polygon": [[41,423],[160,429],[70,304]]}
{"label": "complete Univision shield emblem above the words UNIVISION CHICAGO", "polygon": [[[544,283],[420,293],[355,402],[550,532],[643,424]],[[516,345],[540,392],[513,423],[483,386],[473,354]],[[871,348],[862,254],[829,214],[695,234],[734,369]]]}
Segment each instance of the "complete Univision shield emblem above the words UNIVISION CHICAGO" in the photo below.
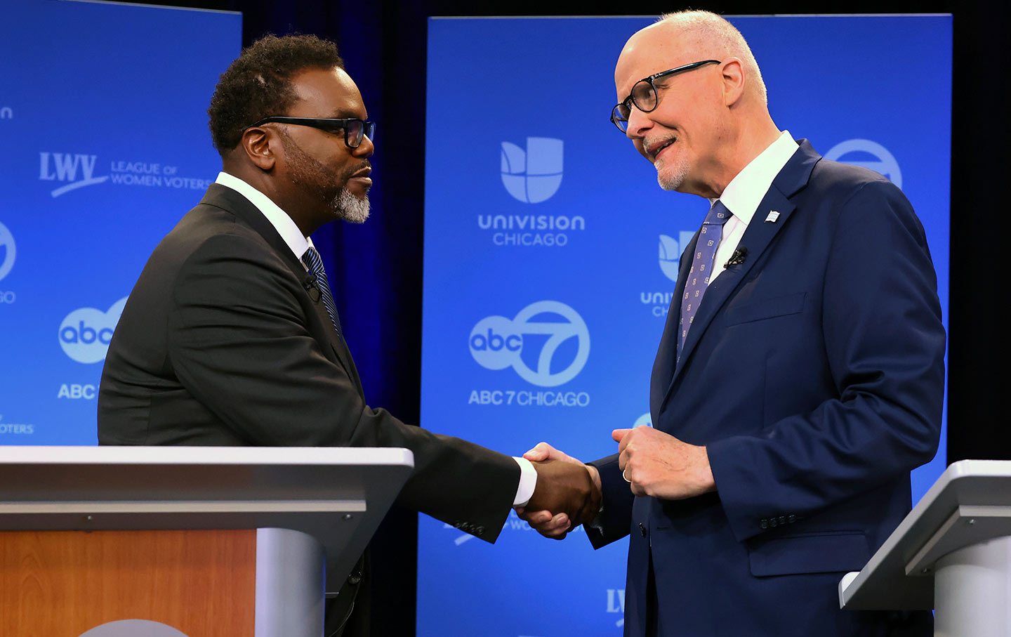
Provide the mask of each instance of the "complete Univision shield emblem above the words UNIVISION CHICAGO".
{"label": "complete Univision shield emblem above the words UNIVISION CHICAGO", "polygon": [[551,198],[562,183],[562,141],[554,138],[527,138],[527,150],[502,142],[502,185],[513,197],[525,203]]}

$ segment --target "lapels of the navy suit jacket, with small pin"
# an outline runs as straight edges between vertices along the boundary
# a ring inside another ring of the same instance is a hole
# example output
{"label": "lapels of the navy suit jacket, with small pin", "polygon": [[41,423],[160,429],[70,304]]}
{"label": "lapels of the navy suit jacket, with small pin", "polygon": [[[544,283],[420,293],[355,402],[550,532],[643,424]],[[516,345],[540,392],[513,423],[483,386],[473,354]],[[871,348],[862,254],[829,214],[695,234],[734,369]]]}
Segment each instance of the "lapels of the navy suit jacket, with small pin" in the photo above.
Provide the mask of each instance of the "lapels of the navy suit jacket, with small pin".
{"label": "lapels of the navy suit jacket, with small pin", "polygon": [[[787,226],[790,216],[794,213],[797,206],[791,202],[791,197],[807,185],[811,171],[814,169],[815,164],[821,160],[821,156],[811,148],[807,140],[800,140],[799,144],[800,148],[797,153],[794,154],[790,161],[787,162],[787,165],[783,167],[783,170],[779,171],[779,174],[776,175],[775,179],[772,180],[772,185],[769,187],[768,192],[765,193],[765,196],[762,197],[758,208],[748,223],[747,230],[744,232],[744,236],[738,244],[739,248],[747,248],[748,251],[744,263],[730,266],[724,270],[707,288],[706,295],[703,297],[699,311],[695,315],[692,328],[688,330],[687,338],[684,341],[684,349],[681,351],[680,358],[675,363],[674,371],[670,375],[670,382],[666,386],[664,400],[669,399],[670,391],[673,389],[677,377],[684,369],[696,346],[706,334],[706,331],[713,323],[720,308],[726,304],[727,299],[737,289],[740,282],[744,280],[748,272],[758,263],[762,254],[771,245],[776,235]],[[778,212],[778,216],[775,220],[766,221],[765,219],[769,212],[772,211]],[[696,235],[696,239],[698,239],[698,234]],[[694,245],[695,242],[693,242]],[[722,268],[723,264],[714,264],[714,267]],[[676,311],[678,314],[680,313],[680,295],[683,294],[686,278],[685,268],[681,267],[677,276],[677,295],[671,303],[670,312]],[[671,325],[673,326],[673,330],[669,329]],[[676,354],[673,354],[673,352],[675,351],[674,347],[676,347],[674,344],[677,341],[677,318],[675,316],[671,324],[669,313],[667,327],[664,328],[663,333],[664,341],[668,338],[671,340],[670,357],[671,359],[675,359]],[[658,406],[662,406],[662,402]],[[654,415],[654,418],[657,416],[658,414]],[[654,420],[654,422],[656,421]]]}

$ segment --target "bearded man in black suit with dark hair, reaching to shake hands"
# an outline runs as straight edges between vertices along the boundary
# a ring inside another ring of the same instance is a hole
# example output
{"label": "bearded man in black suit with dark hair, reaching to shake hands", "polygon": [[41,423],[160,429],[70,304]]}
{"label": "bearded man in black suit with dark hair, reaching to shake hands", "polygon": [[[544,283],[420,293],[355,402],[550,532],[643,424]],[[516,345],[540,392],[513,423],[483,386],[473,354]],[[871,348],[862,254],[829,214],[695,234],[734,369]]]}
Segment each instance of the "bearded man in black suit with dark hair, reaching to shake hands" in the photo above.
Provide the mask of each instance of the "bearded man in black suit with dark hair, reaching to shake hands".
{"label": "bearded man in black suit with dark hair, reaching to shake hands", "polygon": [[[415,472],[397,504],[489,542],[528,500],[591,517],[600,492],[584,468],[510,458],[365,403],[309,239],[369,210],[374,124],[336,46],[257,41],[208,113],[222,172],[130,293],[102,372],[99,442],[406,447]],[[356,621],[346,634],[367,632]]]}

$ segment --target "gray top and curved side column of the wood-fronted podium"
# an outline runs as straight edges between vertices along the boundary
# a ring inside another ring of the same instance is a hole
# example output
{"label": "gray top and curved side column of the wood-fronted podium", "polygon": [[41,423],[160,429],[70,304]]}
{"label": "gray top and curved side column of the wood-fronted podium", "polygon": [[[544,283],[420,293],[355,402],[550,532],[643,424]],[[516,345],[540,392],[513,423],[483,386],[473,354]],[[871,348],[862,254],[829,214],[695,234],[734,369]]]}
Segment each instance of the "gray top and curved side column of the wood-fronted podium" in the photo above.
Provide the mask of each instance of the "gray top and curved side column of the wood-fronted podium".
{"label": "gray top and curved side column of the wood-fronted podium", "polygon": [[325,590],[412,467],[406,449],[0,447],[0,531],[255,530],[255,637],[319,637]]}

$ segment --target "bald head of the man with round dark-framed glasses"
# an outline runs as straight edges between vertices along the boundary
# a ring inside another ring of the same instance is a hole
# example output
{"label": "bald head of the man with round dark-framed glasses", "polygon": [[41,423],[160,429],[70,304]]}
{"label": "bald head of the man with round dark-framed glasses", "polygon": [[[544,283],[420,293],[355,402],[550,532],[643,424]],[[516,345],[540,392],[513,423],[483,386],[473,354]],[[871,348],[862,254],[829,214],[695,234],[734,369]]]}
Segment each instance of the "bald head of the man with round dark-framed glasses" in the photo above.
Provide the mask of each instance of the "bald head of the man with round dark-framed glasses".
{"label": "bald head of the man with round dark-framed glasses", "polygon": [[626,134],[667,190],[719,196],[778,135],[751,50],[715,13],[671,13],[636,32],[615,88]]}

